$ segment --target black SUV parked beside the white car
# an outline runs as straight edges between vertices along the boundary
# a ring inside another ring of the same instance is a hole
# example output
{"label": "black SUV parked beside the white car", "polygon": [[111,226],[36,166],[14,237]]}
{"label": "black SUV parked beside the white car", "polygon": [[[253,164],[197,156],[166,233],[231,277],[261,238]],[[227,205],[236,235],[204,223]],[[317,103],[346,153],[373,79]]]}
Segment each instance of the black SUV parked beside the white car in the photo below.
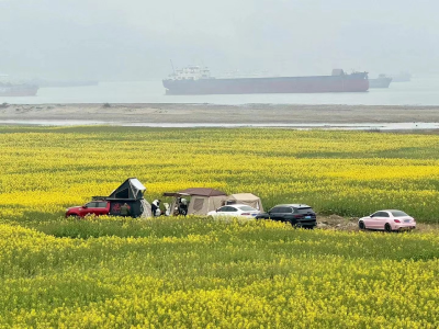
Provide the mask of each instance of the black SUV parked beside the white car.
{"label": "black SUV parked beside the white car", "polygon": [[279,204],[268,213],[257,215],[256,219],[285,222],[294,227],[304,228],[314,228],[317,225],[316,214],[306,204]]}

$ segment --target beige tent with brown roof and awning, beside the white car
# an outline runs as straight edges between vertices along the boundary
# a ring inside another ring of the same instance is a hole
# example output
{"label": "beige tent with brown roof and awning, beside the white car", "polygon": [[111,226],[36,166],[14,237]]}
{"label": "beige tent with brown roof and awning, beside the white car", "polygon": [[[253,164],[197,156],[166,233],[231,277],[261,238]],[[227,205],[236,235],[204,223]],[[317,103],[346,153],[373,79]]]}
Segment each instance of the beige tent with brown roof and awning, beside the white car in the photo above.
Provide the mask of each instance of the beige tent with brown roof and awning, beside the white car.
{"label": "beige tent with brown roof and awning, beside the white car", "polygon": [[171,204],[171,212],[178,206],[178,197],[191,196],[188,205],[188,215],[207,215],[209,212],[215,211],[224,204],[227,194],[214,189],[193,188],[179,192],[164,193],[164,196],[175,197]]}

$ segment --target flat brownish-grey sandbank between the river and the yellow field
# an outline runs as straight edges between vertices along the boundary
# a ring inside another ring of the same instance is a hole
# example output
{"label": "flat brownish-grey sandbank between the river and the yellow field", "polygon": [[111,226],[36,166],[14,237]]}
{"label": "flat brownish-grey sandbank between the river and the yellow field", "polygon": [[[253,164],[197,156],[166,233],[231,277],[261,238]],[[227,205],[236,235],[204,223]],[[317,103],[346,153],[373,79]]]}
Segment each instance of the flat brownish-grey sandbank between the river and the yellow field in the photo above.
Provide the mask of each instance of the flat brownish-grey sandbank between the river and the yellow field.
{"label": "flat brownish-grey sandbank between the river and the yellow field", "polygon": [[120,123],[439,123],[439,106],[282,104],[38,104],[0,105],[0,120]]}

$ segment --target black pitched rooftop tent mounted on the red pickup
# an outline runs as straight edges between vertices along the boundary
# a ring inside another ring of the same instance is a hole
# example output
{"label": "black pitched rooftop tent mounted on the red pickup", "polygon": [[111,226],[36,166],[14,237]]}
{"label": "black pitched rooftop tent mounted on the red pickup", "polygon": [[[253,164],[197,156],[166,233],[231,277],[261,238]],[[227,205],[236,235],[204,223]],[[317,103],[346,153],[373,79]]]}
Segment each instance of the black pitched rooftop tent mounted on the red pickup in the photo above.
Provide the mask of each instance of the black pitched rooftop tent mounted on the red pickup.
{"label": "black pitched rooftop tent mounted on the red pickup", "polygon": [[136,179],[128,178],[110,196],[110,215],[121,215],[121,206],[126,203],[130,206],[131,216],[150,217],[150,204],[144,198],[146,188]]}

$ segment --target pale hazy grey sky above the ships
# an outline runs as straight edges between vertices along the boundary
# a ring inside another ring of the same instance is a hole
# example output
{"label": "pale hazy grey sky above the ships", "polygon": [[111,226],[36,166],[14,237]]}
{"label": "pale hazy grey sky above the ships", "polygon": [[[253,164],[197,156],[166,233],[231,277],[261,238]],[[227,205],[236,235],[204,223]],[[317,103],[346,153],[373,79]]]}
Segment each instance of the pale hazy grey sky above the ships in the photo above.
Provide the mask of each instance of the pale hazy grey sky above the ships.
{"label": "pale hazy grey sky above the ships", "polygon": [[0,0],[0,72],[160,79],[213,72],[439,72],[437,0]]}

